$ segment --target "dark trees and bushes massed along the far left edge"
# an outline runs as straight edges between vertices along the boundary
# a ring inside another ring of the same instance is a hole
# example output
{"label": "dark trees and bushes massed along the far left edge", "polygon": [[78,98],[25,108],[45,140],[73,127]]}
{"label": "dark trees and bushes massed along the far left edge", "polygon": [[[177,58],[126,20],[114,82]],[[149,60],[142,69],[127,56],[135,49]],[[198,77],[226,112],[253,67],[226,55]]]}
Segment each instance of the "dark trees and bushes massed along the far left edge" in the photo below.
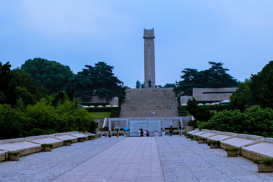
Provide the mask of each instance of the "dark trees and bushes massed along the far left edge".
{"label": "dark trees and bushes massed along the far left edge", "polygon": [[59,85],[58,93],[48,96],[50,89],[25,70],[10,68],[9,62],[0,62],[0,140],[75,130],[95,132],[98,123],[78,107],[80,100],[73,101],[74,89],[68,85],[63,91],[68,80]]}

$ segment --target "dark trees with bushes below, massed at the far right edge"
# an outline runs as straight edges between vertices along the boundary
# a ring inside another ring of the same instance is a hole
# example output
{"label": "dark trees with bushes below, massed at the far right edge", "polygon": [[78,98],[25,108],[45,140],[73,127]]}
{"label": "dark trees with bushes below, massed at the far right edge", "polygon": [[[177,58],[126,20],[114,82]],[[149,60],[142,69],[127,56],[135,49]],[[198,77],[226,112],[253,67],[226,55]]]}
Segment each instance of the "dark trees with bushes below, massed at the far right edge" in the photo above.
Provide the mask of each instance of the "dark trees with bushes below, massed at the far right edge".
{"label": "dark trees with bushes below, massed at the far right edge", "polygon": [[[273,138],[273,61],[250,79],[240,83],[231,97],[228,110],[219,108],[212,114],[198,108],[195,100],[188,102],[188,109],[199,129],[245,133]],[[255,105],[255,106],[254,106]]]}

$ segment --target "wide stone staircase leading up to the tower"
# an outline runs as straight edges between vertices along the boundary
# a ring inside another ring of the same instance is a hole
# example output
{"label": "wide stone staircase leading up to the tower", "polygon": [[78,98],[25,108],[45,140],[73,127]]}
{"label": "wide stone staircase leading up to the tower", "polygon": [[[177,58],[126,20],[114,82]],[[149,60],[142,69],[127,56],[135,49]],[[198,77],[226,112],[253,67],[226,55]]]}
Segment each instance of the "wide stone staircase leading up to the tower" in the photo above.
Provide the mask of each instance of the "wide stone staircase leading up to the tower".
{"label": "wide stone staircase leading up to the tower", "polygon": [[[178,116],[173,88],[128,88],[121,104],[120,117]],[[170,109],[170,107],[172,109]],[[150,115],[151,112],[155,114]]]}

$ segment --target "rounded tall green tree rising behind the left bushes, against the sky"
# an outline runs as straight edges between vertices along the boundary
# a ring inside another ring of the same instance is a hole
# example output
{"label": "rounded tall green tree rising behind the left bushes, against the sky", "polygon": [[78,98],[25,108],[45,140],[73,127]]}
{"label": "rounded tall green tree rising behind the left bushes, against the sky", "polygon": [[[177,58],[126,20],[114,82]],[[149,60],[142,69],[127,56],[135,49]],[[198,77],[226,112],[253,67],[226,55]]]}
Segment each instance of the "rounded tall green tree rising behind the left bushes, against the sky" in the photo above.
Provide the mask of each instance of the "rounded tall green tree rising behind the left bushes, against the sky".
{"label": "rounded tall green tree rising behind the left bushes, against the sky", "polygon": [[29,73],[41,86],[47,88],[49,94],[57,93],[67,86],[69,79],[74,76],[69,66],[41,58],[26,60],[21,69]]}

